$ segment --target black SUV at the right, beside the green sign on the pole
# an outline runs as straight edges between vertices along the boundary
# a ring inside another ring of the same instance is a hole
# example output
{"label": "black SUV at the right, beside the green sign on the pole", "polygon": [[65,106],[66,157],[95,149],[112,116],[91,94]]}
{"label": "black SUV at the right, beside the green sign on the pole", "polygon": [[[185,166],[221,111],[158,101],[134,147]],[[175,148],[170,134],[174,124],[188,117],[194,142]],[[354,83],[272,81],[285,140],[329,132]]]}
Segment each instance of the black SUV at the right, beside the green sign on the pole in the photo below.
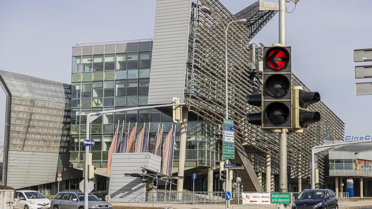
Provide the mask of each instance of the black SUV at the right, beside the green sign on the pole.
{"label": "black SUV at the right, beside the green sign on the pole", "polygon": [[305,189],[302,191],[292,209],[338,209],[339,203],[330,189]]}

